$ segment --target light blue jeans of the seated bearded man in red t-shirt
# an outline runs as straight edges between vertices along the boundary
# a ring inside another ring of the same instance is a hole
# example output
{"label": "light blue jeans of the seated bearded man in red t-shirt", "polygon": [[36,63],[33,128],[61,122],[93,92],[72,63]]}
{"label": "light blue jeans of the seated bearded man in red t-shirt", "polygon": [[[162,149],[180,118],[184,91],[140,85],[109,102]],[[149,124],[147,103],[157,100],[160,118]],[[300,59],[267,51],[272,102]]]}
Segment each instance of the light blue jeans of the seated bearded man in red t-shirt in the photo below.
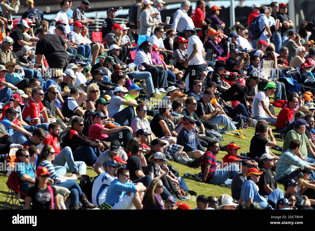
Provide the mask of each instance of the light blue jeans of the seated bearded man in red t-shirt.
{"label": "light blue jeans of the seated bearded man in red t-shirt", "polygon": [[86,164],[83,161],[74,162],[70,147],[65,147],[60,151],[54,159],[54,164],[65,166],[66,170],[71,173],[76,171],[79,171],[80,174],[86,173]]}

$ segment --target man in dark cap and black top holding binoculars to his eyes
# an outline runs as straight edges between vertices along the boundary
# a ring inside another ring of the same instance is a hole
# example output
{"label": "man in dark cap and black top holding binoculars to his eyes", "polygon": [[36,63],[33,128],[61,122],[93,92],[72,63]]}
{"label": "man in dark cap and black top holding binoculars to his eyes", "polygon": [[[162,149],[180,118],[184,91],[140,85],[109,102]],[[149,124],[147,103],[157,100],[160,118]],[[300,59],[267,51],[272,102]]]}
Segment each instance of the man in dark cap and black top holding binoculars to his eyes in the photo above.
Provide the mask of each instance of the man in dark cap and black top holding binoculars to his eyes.
{"label": "man in dark cap and black top holding binoculars to his eyes", "polygon": [[[238,58],[239,55],[240,59]],[[230,51],[230,57],[226,60],[226,65],[228,66],[226,68],[226,71],[236,72],[238,74],[245,75],[241,68],[247,67],[248,64],[249,54],[245,52],[239,52],[237,48],[232,48],[232,50]]]}

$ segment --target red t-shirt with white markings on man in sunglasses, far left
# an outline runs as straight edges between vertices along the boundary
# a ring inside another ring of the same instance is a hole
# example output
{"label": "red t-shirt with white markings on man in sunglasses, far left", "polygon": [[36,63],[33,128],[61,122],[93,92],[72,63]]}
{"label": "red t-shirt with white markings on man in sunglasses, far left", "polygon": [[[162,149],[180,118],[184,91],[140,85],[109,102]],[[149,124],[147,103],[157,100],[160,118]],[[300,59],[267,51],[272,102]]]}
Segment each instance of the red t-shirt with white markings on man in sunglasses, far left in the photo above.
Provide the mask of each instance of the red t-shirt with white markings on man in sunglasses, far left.
{"label": "red t-shirt with white markings on man in sunglasses, far left", "polygon": [[40,113],[45,110],[42,102],[36,103],[33,98],[30,98],[26,103],[22,111],[22,118],[30,121],[31,124],[34,123],[34,119],[40,120]]}

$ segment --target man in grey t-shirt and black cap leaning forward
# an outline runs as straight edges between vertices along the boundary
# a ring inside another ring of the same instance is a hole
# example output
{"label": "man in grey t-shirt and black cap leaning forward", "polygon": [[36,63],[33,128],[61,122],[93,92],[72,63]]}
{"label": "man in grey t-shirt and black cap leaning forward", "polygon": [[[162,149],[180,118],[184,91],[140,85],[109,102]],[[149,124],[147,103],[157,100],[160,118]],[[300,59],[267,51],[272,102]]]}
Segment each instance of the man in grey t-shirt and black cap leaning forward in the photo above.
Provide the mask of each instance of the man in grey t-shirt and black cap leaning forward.
{"label": "man in grey t-shirt and black cap leaning forward", "polygon": [[107,161],[111,158],[115,158],[115,160],[118,160],[118,158],[121,158],[121,163],[126,164],[126,160],[128,159],[126,152],[123,150],[123,148],[120,147],[120,142],[118,140],[113,140],[111,142],[111,145],[109,147],[109,150],[104,151],[100,154],[100,156],[97,158],[95,165],[94,165],[94,171],[100,175],[104,171],[103,169],[107,169]]}

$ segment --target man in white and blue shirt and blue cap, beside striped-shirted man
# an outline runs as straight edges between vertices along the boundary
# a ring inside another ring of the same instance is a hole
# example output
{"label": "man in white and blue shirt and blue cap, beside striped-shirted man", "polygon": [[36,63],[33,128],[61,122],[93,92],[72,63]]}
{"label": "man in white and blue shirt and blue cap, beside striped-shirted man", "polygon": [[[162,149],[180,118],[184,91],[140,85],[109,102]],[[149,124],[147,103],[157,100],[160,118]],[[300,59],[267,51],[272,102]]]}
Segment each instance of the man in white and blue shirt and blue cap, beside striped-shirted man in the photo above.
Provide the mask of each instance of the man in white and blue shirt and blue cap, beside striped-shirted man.
{"label": "man in white and blue shirt and blue cap, beside striped-shirted man", "polygon": [[106,161],[106,171],[101,173],[93,183],[92,203],[97,204],[97,206],[105,202],[108,186],[114,179],[117,179],[117,169],[122,166],[122,163],[115,159],[111,158]]}

